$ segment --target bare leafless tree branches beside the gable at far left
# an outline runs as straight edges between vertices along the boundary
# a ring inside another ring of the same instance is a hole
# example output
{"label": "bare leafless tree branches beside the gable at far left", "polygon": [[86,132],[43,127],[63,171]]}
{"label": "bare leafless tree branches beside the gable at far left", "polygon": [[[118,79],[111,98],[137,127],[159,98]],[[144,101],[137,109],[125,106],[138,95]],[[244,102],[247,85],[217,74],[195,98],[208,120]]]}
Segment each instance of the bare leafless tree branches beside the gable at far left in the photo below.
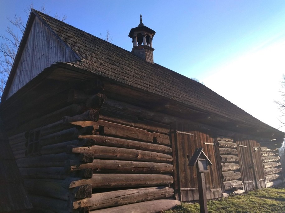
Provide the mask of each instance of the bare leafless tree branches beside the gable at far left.
{"label": "bare leafless tree branches beside the gable at far left", "polygon": [[[11,27],[8,25],[7,29],[5,30],[6,34],[0,35],[4,41],[0,45],[0,97],[2,96],[13,62],[15,60],[31,8],[33,8],[32,4],[27,6],[27,8],[24,8],[24,11],[26,12],[25,20],[22,20],[21,16],[17,15],[15,15],[13,19],[8,19]],[[45,5],[40,8],[40,11],[48,14],[46,12]],[[57,14],[55,14],[55,18],[58,18]],[[63,15],[60,20],[66,20],[66,16]]]}

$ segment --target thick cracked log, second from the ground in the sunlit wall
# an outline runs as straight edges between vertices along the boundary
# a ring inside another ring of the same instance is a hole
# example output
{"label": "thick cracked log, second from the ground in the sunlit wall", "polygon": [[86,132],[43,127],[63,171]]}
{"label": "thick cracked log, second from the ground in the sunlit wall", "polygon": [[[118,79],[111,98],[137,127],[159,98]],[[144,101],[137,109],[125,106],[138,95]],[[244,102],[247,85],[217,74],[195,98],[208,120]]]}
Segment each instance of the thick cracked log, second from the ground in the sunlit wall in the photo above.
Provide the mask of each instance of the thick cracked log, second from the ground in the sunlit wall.
{"label": "thick cracked log, second from the ground in the sunlit wall", "polygon": [[73,208],[77,209],[89,206],[90,210],[94,210],[110,206],[121,206],[136,202],[170,198],[173,197],[173,195],[173,188],[164,186],[118,190],[92,194],[90,198],[75,201]]}

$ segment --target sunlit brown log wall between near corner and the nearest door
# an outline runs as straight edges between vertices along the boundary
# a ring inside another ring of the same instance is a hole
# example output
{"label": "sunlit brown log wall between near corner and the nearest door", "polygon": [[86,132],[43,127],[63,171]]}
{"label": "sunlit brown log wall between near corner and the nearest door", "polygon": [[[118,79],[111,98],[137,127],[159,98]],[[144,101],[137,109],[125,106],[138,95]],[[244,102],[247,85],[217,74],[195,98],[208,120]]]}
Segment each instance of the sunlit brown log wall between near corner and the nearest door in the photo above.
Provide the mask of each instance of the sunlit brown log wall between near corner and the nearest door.
{"label": "sunlit brown log wall between near corner and the nearest door", "polygon": [[93,188],[92,197],[75,201],[74,209],[95,210],[151,200],[159,202],[159,199],[174,196],[173,188],[169,187],[173,184],[169,125],[106,109],[96,122],[74,121],[72,124],[83,128],[92,125],[96,129],[92,135],[78,137],[89,141],[91,146],[67,147],[69,154],[94,156],[91,163],[70,161],[65,166],[70,172],[93,170],[90,179],[75,180],[69,185],[73,188],[91,184]]}

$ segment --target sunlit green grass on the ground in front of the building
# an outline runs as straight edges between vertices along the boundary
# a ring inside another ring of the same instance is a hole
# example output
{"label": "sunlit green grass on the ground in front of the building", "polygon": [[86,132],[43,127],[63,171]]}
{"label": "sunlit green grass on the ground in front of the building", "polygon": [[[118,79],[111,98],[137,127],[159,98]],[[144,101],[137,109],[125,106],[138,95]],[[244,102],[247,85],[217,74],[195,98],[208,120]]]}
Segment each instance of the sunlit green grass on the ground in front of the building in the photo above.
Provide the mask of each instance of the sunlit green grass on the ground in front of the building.
{"label": "sunlit green grass on the ground in front of the building", "polygon": [[[207,201],[209,213],[285,213],[285,188],[263,188]],[[163,213],[200,213],[199,203],[181,203]]]}

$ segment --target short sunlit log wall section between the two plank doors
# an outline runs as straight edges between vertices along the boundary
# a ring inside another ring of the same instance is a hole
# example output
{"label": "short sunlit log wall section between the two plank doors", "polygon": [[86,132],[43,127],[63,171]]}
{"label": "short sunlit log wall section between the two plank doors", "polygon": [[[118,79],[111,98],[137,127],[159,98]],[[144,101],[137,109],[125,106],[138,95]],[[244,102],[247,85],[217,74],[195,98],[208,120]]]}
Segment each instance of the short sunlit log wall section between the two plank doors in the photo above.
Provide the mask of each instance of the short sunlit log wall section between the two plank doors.
{"label": "short sunlit log wall section between the two plank doors", "polygon": [[217,142],[225,190],[242,188],[239,157],[234,139],[217,137]]}

